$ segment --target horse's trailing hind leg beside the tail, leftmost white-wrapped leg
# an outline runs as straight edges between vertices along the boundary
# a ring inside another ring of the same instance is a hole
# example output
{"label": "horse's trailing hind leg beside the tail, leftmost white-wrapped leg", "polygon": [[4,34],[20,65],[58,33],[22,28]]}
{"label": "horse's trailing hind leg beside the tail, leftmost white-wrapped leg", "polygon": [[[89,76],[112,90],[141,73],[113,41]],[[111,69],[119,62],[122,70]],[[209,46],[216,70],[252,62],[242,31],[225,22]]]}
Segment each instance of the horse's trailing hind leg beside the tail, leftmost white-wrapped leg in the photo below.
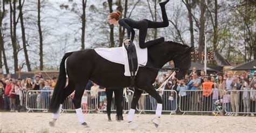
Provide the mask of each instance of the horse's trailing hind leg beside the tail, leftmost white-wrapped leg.
{"label": "horse's trailing hind leg beside the tail, leftmost white-wrapped leg", "polygon": [[60,115],[60,111],[62,109],[62,104],[64,102],[64,100],[73,92],[75,91],[75,84],[72,80],[69,80],[69,84],[68,86],[65,87],[65,92],[64,92],[64,95],[63,95],[63,99],[62,101],[60,101],[60,105],[59,105],[59,110],[57,113],[54,113],[52,115],[52,121],[49,122],[50,126],[51,127],[54,127],[55,126],[55,123],[57,121],[57,119],[59,118],[59,115]]}

